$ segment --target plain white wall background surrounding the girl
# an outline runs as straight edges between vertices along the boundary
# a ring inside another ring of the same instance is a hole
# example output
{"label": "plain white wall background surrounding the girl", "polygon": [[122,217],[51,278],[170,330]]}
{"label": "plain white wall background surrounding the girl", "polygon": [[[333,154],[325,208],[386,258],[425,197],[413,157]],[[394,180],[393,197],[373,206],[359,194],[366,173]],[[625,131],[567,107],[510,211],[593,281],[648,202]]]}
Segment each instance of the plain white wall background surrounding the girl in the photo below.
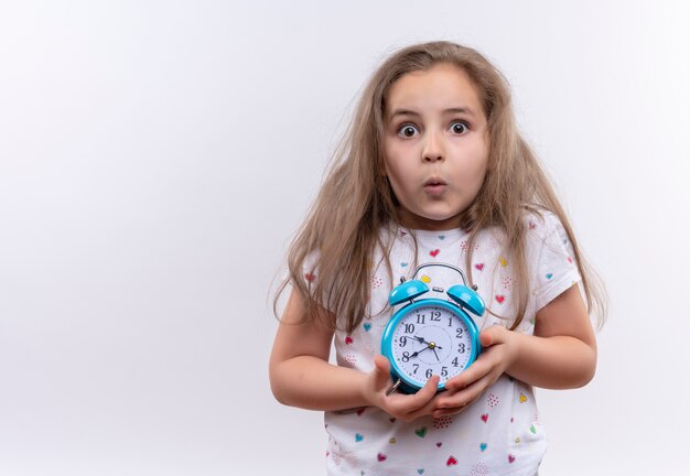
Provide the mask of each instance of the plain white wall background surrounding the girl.
{"label": "plain white wall background surrounding the girl", "polygon": [[366,78],[438,39],[505,73],[608,286],[595,380],[538,392],[541,474],[682,474],[683,3],[0,3],[0,474],[323,474],[270,290]]}

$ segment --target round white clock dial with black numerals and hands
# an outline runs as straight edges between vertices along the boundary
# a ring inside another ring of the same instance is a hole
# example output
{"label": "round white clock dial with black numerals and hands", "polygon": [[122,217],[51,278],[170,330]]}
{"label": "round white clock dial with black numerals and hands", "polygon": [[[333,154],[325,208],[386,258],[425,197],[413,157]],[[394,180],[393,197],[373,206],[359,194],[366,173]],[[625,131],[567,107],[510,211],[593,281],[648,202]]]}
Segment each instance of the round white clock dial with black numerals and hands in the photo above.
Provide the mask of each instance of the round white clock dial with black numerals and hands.
{"label": "round white clock dial with black numerals and hands", "polygon": [[471,329],[452,305],[414,305],[396,325],[391,356],[406,380],[423,387],[432,375],[439,385],[463,371],[476,355]]}

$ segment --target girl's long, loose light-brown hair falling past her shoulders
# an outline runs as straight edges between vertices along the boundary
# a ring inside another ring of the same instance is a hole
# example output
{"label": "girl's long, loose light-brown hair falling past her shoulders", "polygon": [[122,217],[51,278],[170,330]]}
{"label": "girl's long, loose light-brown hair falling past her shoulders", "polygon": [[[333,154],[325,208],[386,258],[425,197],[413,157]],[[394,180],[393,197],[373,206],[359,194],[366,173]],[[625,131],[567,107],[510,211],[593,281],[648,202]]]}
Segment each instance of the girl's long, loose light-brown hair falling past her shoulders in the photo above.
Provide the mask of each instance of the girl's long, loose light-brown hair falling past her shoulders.
{"label": "girl's long, loose light-brown hair falling past her shoulders", "polygon": [[[479,93],[488,132],[488,169],[484,183],[463,213],[461,227],[471,230],[466,270],[472,283],[472,250],[478,234],[488,227],[504,231],[506,252],[513,258],[517,289],[515,329],[522,321],[530,290],[526,262],[526,209],[553,212],[568,234],[587,309],[599,317],[606,314],[604,289],[586,264],[572,228],[543,170],[515,125],[510,90],[502,73],[473,48],[450,42],[431,42],[405,47],[374,73],[366,85],[344,140],[310,213],[288,252],[289,278],[280,293],[292,283],[309,303],[306,322],[330,328],[357,327],[367,314],[373,252],[382,244],[379,229],[398,224],[398,205],[384,169],[382,139],[386,99],[390,87],[401,76],[448,63],[464,71]],[[384,253],[385,257],[387,253]],[[304,266],[316,257],[310,270]],[[386,259],[386,258],[385,258]],[[389,274],[390,262],[386,260]],[[337,316],[317,312],[319,303]]]}

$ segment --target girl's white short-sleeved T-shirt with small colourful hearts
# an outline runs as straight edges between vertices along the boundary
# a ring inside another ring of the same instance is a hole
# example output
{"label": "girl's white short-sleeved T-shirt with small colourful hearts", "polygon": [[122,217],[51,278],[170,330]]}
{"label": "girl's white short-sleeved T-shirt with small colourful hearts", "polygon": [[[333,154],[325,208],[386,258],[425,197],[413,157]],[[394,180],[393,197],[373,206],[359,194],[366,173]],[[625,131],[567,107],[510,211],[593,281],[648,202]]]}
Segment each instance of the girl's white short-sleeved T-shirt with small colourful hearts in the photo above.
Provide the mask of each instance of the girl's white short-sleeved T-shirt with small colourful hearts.
{"label": "girl's white short-sleeved T-shirt with small colourful hearts", "polygon": [[[580,281],[580,275],[558,218],[543,213],[529,214],[525,220],[531,294],[517,332],[532,334],[537,311]],[[393,238],[390,251],[393,282],[388,278],[379,250],[373,257],[378,266],[370,278],[369,310],[374,317],[365,318],[352,333],[337,331],[334,335],[337,364],[363,372],[374,369],[373,358],[381,353],[384,328],[397,310],[387,306],[388,294],[400,277],[412,278],[416,262],[418,266],[449,263],[467,275],[467,232],[400,229],[396,237],[390,236],[393,231],[381,232],[384,242]],[[417,260],[412,235],[418,242]],[[482,317],[471,314],[479,329],[494,324],[509,326],[515,317],[510,312],[515,313],[511,304],[516,283],[510,257],[503,251],[502,236],[495,229],[479,235],[472,275],[487,310],[507,320],[489,312]],[[452,416],[424,416],[406,423],[378,408],[367,407],[326,412],[325,428],[326,466],[333,476],[533,475],[547,448],[531,387],[505,375],[472,405]]]}

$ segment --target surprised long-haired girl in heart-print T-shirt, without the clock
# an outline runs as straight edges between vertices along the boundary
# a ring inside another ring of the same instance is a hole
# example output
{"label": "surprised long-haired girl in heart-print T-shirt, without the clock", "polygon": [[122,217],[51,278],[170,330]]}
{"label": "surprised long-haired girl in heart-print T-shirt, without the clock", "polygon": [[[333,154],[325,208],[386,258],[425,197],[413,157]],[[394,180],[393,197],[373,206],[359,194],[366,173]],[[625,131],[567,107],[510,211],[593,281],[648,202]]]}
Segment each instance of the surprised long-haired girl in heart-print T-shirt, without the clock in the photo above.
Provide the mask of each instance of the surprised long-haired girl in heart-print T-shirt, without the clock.
{"label": "surprised long-haired girl in heart-print T-shirt, without the clock", "polygon": [[[505,78],[472,48],[406,47],[373,75],[343,144],[288,256],[273,394],[325,411],[330,475],[536,474],[532,387],[592,379],[590,314],[605,306]],[[434,375],[403,394],[380,355],[387,298],[424,263],[462,269],[483,299],[482,353],[444,391]]]}

